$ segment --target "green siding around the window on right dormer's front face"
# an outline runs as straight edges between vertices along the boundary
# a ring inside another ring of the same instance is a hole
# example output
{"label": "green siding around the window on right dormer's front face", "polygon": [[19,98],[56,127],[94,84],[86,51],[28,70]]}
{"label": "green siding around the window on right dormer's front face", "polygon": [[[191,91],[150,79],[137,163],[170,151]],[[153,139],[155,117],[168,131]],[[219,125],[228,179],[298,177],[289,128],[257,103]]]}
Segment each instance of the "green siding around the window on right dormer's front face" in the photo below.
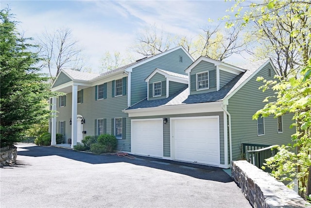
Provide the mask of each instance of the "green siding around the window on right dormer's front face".
{"label": "green siding around the window on right dormer's front face", "polygon": [[[209,89],[206,90],[196,90],[196,81],[197,77],[196,74],[203,73],[203,72],[209,72],[208,73],[208,82],[209,82]],[[206,61],[201,61],[198,63],[190,72],[190,94],[201,94],[201,93],[209,93],[209,92],[215,92],[217,90],[216,88],[216,66],[213,63],[209,63]]]}

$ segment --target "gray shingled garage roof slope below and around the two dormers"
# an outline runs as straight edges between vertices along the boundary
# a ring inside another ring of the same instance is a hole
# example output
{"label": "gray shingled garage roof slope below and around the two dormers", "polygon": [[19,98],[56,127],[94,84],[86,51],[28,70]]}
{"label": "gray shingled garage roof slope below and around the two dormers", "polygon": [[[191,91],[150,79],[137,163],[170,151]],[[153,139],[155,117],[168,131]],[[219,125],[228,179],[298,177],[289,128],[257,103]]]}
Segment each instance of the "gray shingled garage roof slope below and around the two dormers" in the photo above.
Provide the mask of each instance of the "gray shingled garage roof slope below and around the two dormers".
{"label": "gray shingled garage roof slope below and around the two dormers", "polygon": [[149,101],[147,100],[147,98],[145,98],[144,100],[138,102],[137,104],[130,106],[126,110],[222,101],[224,100],[225,97],[227,97],[235,89],[237,89],[244,81],[246,81],[247,78],[252,76],[259,69],[259,67],[261,67],[262,64],[264,64],[267,60],[269,59],[255,61],[252,63],[245,64],[243,66],[239,66],[240,68],[246,69],[247,71],[236,76],[224,87],[222,87],[219,91],[202,93],[197,95],[189,95],[189,89],[187,87],[168,98],[149,100]]}

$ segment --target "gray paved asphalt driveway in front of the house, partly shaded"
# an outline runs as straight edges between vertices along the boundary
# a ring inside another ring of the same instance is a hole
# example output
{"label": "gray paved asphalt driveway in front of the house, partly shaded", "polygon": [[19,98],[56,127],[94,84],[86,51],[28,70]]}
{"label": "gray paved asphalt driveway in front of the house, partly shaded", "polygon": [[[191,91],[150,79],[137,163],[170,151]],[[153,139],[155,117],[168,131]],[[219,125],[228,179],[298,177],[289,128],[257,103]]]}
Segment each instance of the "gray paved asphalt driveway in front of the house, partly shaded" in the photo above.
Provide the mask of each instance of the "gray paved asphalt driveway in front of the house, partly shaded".
{"label": "gray paved asphalt driveway in front of the house, partly shaded", "polygon": [[222,169],[18,145],[0,169],[1,208],[250,208]]}

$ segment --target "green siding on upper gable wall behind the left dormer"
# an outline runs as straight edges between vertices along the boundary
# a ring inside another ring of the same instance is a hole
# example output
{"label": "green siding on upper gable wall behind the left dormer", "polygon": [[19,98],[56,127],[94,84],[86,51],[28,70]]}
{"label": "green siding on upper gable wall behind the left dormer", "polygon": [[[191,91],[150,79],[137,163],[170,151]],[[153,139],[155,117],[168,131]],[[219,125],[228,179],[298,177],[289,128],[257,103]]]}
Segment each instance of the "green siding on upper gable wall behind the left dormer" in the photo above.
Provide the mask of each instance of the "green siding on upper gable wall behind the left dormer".
{"label": "green siding on upper gable wall behind the left dormer", "polygon": [[[180,56],[183,57],[183,62],[179,62]],[[186,75],[185,70],[191,63],[190,57],[182,49],[178,49],[134,68],[131,73],[131,105],[147,97],[145,79],[156,68]]]}

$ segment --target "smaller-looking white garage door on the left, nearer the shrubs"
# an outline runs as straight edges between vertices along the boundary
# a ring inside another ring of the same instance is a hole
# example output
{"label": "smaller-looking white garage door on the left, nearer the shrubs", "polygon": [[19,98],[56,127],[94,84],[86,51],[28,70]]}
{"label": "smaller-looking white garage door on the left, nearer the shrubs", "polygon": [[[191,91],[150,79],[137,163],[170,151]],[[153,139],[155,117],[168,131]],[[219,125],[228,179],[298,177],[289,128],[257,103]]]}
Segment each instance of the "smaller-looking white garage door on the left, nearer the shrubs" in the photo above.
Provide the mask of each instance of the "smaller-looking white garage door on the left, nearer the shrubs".
{"label": "smaller-looking white garage door on the left, nearer the shrubs", "polygon": [[163,121],[132,120],[131,152],[163,157]]}

